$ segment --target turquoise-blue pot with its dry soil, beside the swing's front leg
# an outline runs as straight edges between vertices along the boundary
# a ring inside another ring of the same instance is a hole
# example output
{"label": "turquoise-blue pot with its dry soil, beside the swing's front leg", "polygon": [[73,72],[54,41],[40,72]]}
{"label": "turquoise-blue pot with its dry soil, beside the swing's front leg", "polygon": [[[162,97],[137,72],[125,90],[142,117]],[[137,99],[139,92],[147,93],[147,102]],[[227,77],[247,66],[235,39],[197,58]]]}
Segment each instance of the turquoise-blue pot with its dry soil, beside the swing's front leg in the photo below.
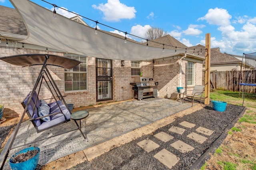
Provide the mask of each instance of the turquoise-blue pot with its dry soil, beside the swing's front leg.
{"label": "turquoise-blue pot with its dry soil, beside the swing's front leg", "polygon": [[12,170],[35,170],[38,166],[40,148],[29,147],[20,150],[9,159]]}

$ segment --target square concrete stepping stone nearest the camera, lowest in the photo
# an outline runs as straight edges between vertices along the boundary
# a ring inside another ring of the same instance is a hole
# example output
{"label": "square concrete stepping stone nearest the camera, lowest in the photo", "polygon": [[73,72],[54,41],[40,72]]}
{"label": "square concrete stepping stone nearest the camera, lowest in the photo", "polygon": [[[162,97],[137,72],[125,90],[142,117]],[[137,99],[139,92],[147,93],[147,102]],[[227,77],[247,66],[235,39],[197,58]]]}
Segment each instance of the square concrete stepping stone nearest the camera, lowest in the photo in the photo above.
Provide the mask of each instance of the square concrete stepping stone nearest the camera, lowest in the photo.
{"label": "square concrete stepping stone nearest the camera, lowest in the photo", "polygon": [[180,160],[176,155],[172,154],[166,149],[161,150],[157,154],[154,155],[154,158],[159,160],[162,164],[167,166],[168,168],[172,168],[175,164],[177,164]]}

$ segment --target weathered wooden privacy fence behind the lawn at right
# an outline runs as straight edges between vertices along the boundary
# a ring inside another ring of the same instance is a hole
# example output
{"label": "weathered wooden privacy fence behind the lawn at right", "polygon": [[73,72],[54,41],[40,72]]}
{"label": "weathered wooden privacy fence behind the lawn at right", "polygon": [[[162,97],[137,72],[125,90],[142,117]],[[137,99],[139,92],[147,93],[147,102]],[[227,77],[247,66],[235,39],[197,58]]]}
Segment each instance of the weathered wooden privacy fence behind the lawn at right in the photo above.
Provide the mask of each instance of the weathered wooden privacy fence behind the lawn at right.
{"label": "weathered wooden privacy fence behind the lawn at right", "polygon": [[[204,84],[204,71],[203,71],[203,84]],[[249,74],[250,73],[250,74]],[[211,83],[214,89],[228,90],[228,91],[240,91],[246,86],[239,85],[239,83],[256,84],[256,70],[242,71],[240,78],[240,71],[211,71]],[[249,75],[249,77],[248,77]],[[248,77],[248,82],[247,82]],[[240,80],[240,81],[239,81]],[[256,86],[247,86],[248,93],[256,93]]]}

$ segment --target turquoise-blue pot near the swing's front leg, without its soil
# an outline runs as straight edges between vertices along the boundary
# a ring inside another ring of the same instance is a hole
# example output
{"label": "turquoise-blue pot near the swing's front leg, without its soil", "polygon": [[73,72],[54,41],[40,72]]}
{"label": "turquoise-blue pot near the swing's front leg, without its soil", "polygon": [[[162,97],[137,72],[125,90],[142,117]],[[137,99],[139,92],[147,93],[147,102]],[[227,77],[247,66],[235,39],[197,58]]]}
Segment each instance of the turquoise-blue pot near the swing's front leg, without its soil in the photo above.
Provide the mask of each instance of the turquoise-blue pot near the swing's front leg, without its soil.
{"label": "turquoise-blue pot near the swing's front leg, without its soil", "polygon": [[39,161],[40,148],[38,148],[38,147],[26,148],[26,149],[20,150],[16,154],[12,155],[12,157],[15,157],[21,153],[26,153],[30,150],[38,150],[39,152],[38,152],[38,154],[36,154],[36,156],[34,156],[33,158],[31,158],[29,160],[26,160],[25,162],[13,163],[12,158],[9,159],[10,166],[11,166],[12,170],[35,170],[36,169],[36,166]]}

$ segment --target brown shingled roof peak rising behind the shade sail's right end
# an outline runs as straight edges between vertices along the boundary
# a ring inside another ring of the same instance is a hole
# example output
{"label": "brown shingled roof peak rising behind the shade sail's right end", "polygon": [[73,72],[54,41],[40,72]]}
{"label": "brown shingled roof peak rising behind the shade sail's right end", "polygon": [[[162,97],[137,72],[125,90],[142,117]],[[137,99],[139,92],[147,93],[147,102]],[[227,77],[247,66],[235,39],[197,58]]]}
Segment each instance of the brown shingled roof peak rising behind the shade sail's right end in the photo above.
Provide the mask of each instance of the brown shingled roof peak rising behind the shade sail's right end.
{"label": "brown shingled roof peak rising behind the shade sail's right end", "polygon": [[[154,41],[154,42],[152,42]],[[163,44],[166,45],[164,46],[164,48],[168,48],[168,49],[175,49],[175,47],[180,47],[180,48],[188,48],[186,45],[184,45],[183,43],[179,42],[178,40],[176,40],[175,38],[173,38],[172,36],[170,36],[169,34],[160,38],[157,38],[155,40],[152,41],[148,41],[148,46],[152,46],[152,47],[163,47]],[[147,42],[145,42],[144,44],[147,44]],[[172,47],[170,47],[170,46]]]}

